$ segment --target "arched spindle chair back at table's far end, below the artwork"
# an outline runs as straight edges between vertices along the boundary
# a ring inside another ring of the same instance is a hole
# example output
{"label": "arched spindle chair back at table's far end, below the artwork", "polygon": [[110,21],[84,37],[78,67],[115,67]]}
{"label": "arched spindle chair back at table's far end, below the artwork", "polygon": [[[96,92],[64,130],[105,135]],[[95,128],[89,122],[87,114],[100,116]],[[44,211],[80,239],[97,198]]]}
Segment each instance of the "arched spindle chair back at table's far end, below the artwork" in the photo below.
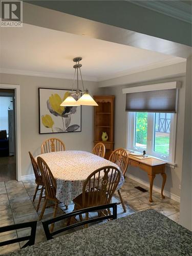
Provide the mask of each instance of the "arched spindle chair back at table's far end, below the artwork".
{"label": "arched spindle chair back at table's far end, below the artwork", "polygon": [[41,154],[65,150],[65,144],[62,142],[62,140],[59,140],[57,138],[47,139],[41,145]]}

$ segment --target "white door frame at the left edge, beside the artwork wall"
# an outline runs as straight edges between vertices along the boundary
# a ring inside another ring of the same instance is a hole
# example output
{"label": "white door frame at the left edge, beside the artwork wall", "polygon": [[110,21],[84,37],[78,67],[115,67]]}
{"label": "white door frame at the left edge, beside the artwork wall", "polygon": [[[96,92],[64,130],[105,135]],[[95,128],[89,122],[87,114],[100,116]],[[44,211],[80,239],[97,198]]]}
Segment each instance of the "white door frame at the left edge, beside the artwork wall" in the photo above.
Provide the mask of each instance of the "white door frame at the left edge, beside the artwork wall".
{"label": "white door frame at the left edge, beside the artwork wall", "polygon": [[20,86],[18,84],[0,83],[0,89],[14,89],[15,91],[15,153],[16,153],[16,179],[22,177],[22,161],[20,148]]}

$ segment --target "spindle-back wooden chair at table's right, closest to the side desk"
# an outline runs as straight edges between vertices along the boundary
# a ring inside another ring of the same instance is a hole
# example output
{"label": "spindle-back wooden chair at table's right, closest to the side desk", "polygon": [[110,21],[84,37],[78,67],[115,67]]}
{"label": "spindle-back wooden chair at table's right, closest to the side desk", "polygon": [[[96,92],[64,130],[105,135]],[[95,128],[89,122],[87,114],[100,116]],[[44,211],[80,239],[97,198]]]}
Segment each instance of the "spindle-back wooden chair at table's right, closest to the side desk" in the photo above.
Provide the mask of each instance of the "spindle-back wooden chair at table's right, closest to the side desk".
{"label": "spindle-back wooden chair at table's right, closest to the side desk", "polygon": [[[111,153],[109,161],[117,164],[119,166],[123,176],[125,176],[125,173],[126,173],[126,170],[127,170],[128,164],[129,164],[129,157],[128,157],[128,154],[126,153],[126,151],[124,150],[124,148],[119,147],[116,150],[114,150]],[[118,189],[117,192],[118,192],[123,210],[124,210],[124,212],[126,212],[126,207],[125,207],[124,201],[122,199],[120,189]]]}

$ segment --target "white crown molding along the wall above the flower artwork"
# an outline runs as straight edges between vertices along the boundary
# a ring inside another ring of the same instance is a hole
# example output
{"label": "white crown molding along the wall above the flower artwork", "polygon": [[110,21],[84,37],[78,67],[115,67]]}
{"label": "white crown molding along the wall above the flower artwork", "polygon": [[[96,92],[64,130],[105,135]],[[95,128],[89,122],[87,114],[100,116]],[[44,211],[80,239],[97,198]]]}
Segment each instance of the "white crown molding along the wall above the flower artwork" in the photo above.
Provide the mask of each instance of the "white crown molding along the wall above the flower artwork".
{"label": "white crown molding along the wall above the flower artwork", "polygon": [[[74,75],[61,74],[61,73],[48,73],[48,72],[38,72],[30,70],[17,70],[17,69],[4,69],[0,68],[0,73],[12,74],[12,75],[23,75],[23,76],[39,76],[39,77],[51,77],[51,78],[60,78],[60,79],[73,79]],[[84,81],[95,81],[98,79],[92,76],[83,76]]]}

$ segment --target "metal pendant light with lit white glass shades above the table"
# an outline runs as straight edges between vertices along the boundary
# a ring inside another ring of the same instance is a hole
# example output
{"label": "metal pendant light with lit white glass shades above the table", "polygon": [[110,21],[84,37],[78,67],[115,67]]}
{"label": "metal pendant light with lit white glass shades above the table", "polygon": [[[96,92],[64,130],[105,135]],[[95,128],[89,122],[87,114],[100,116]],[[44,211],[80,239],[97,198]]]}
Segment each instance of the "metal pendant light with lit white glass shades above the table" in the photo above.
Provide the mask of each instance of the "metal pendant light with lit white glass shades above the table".
{"label": "metal pendant light with lit white glass shades above the table", "polygon": [[[74,74],[74,78],[73,78],[72,91],[71,91],[70,95],[60,104],[61,106],[80,106],[80,105],[98,106],[97,102],[89,94],[88,89],[84,90],[81,69],[80,69],[82,67],[82,65],[79,63],[79,61],[81,59],[82,59],[81,57],[76,57],[73,59],[73,61],[76,63],[73,66],[73,68],[75,69],[75,74]],[[83,89],[82,91],[79,90],[79,74],[80,74],[81,83],[82,83],[82,89]],[[74,84],[75,84],[75,75],[77,75],[77,90],[76,91],[73,90]],[[80,96],[80,98],[79,98],[79,96]]]}

